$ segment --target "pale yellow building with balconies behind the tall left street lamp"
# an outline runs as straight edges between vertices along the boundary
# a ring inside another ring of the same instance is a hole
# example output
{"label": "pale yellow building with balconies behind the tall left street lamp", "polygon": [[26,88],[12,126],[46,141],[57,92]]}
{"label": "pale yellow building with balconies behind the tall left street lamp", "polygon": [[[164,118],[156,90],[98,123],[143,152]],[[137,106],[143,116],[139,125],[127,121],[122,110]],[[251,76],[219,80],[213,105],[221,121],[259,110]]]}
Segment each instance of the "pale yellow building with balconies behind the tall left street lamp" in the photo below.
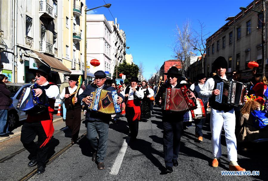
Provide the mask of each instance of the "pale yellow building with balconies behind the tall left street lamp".
{"label": "pale yellow building with balconies behind the tall left street lamp", "polygon": [[85,7],[85,0],[63,1],[62,63],[79,75],[84,70]]}

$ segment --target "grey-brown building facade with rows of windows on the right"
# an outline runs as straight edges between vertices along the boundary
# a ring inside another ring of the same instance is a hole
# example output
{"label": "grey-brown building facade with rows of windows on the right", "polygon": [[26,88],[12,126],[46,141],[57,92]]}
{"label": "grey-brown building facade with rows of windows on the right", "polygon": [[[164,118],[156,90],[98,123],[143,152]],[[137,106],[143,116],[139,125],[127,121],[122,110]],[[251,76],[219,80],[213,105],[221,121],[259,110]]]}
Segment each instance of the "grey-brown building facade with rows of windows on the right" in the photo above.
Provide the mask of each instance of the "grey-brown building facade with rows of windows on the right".
{"label": "grey-brown building facade with rows of windows on the right", "polygon": [[[261,1],[255,0],[247,8],[261,12]],[[205,58],[207,76],[213,71],[212,63],[219,56],[223,56],[228,62],[227,74],[236,70],[241,72],[244,78],[249,78],[252,75],[247,67],[248,62],[257,61],[261,67],[263,14],[252,10],[242,10],[236,16],[227,18],[228,22],[207,38]]]}

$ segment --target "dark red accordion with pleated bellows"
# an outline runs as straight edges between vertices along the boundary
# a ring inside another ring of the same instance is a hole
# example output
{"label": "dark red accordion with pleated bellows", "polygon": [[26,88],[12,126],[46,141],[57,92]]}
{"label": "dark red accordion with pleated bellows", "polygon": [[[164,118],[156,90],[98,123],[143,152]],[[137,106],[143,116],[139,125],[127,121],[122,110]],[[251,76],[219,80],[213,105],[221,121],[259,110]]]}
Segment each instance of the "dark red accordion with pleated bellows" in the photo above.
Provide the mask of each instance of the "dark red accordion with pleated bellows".
{"label": "dark red accordion with pleated bellows", "polygon": [[186,112],[196,109],[196,100],[189,98],[190,90],[186,86],[180,89],[167,88],[163,94],[162,109],[173,112]]}

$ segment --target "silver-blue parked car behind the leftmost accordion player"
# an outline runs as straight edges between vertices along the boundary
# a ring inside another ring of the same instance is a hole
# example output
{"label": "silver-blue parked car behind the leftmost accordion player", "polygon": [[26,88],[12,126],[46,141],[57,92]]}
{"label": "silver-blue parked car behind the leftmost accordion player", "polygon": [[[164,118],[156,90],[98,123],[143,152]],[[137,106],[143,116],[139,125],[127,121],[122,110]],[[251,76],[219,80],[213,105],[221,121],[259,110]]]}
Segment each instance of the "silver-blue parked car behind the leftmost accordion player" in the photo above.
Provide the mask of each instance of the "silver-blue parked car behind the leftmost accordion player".
{"label": "silver-blue parked car behind the leftmost accordion player", "polygon": [[24,87],[30,87],[31,83],[6,83],[7,88],[10,90],[10,98],[12,98],[13,103],[10,105],[7,113],[7,120],[9,121],[10,128],[14,128],[19,121],[26,120],[27,116],[25,112],[16,109],[18,100],[20,98],[22,89]]}

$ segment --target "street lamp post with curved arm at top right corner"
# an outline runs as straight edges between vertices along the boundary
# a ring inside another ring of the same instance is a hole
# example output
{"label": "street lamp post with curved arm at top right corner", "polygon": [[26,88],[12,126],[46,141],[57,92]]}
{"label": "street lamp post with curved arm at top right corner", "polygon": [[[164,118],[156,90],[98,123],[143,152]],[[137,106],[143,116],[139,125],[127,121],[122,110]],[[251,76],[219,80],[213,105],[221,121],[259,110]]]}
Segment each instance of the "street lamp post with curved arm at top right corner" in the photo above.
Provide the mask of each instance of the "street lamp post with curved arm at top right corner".
{"label": "street lamp post with curved arm at top right corner", "polygon": [[262,0],[262,12],[252,10],[246,7],[239,7],[240,10],[251,10],[256,13],[260,13],[263,16],[263,21],[262,21],[262,27],[261,27],[261,50],[262,50],[262,60],[261,60],[261,65],[262,65],[262,73],[265,75],[265,64],[266,64],[266,40],[265,40],[265,28],[266,28],[266,16],[265,16],[265,1]]}

